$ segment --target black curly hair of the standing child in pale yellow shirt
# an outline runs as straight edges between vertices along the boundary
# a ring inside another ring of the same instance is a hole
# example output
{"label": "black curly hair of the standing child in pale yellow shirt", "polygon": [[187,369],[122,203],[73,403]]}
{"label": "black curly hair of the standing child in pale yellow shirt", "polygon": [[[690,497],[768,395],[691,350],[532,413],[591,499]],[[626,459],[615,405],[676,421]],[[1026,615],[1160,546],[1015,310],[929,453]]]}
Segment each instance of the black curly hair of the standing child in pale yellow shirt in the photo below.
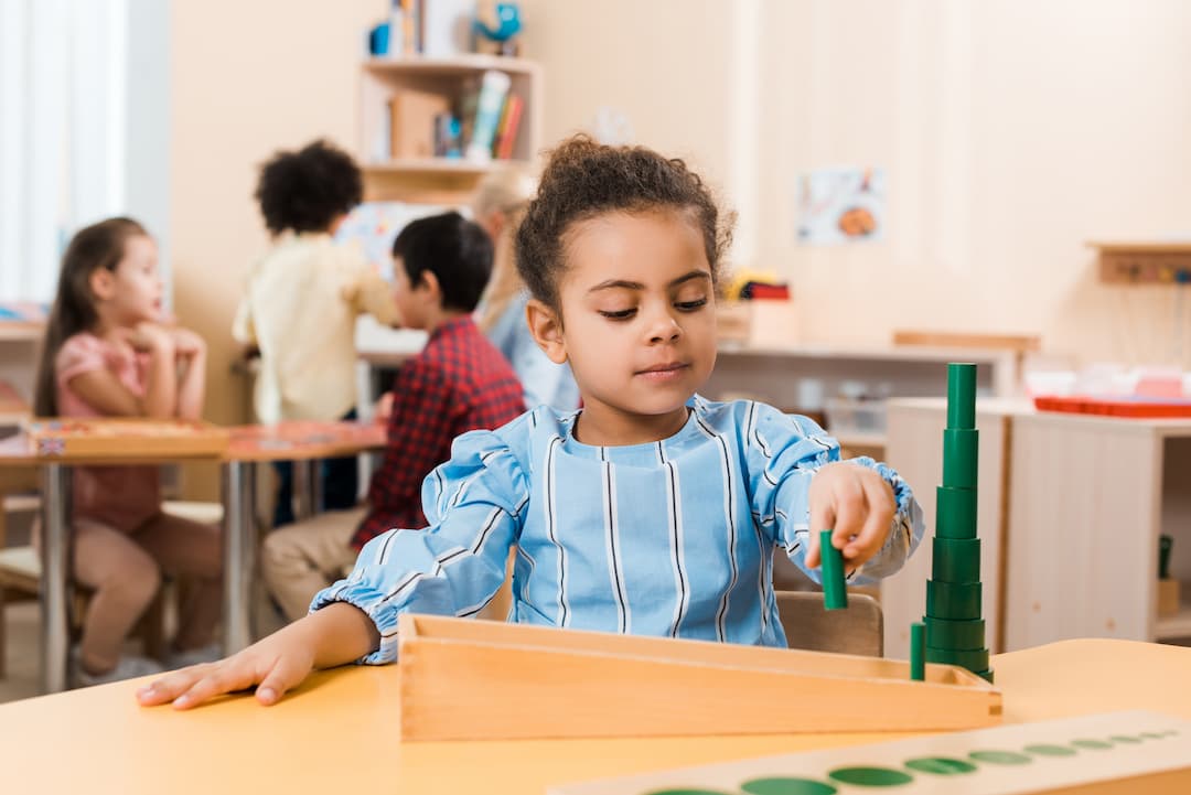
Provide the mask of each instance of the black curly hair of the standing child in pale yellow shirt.
{"label": "black curly hair of the standing child in pale yellow shirt", "polygon": [[325,232],[337,215],[360,204],[363,181],[350,155],[319,139],[274,155],[261,167],[255,195],[274,234]]}

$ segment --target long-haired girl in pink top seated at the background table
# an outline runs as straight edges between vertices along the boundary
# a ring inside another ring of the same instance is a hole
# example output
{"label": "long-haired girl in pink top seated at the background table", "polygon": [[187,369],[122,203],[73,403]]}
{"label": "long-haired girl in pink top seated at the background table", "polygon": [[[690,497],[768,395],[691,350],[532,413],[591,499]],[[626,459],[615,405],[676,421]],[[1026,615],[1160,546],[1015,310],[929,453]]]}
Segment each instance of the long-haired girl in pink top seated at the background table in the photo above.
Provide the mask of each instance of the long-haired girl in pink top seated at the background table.
{"label": "long-haired girl in pink top seated at the background table", "polygon": [[[46,327],[37,414],[198,419],[205,370],[202,339],[162,325],[157,246],[144,227],[112,218],[75,234]],[[205,651],[219,615],[219,530],[162,513],[155,467],[75,469],[71,525],[74,576],[94,590],[76,655],[80,683],[162,670],[120,655],[162,571],[197,581],[168,662]]]}

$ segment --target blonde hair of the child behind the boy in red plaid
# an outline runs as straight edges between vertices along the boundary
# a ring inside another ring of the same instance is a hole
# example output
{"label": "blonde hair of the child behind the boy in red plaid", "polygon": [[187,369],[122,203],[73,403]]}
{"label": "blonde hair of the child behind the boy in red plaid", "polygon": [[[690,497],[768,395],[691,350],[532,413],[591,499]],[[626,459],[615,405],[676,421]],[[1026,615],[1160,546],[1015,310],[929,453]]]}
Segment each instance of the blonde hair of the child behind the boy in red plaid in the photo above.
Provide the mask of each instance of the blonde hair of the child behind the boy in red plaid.
{"label": "blonde hair of the child behind the boy in red plaid", "polygon": [[517,275],[513,262],[513,237],[525,215],[525,208],[537,193],[537,180],[529,173],[517,168],[501,168],[490,171],[475,189],[472,199],[472,213],[478,221],[493,213],[504,217],[500,239],[493,240],[495,255],[492,262],[492,277],[480,303],[479,325],[484,331],[491,330],[505,309],[525,286]]}

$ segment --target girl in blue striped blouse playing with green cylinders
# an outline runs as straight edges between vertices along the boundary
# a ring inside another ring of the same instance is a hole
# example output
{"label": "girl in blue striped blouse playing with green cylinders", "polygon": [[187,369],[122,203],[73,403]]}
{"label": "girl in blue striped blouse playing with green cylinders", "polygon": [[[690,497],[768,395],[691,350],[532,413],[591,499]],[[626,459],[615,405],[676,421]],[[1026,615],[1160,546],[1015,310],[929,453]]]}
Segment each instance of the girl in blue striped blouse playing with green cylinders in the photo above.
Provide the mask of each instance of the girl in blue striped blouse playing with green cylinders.
{"label": "girl in blue striped blouse playing with green cylinders", "polygon": [[834,528],[853,582],[897,571],[922,537],[909,486],[840,461],[810,420],[696,390],[716,359],[730,239],[681,161],[585,137],[553,154],[517,232],[526,320],[568,363],[584,408],[540,407],[456,439],[423,486],[426,528],[372,540],[311,614],[138,693],[187,708],[258,684],[274,703],[312,669],[397,658],[403,612],[474,615],[516,547],[510,620],[785,645],[774,546],[817,580]]}

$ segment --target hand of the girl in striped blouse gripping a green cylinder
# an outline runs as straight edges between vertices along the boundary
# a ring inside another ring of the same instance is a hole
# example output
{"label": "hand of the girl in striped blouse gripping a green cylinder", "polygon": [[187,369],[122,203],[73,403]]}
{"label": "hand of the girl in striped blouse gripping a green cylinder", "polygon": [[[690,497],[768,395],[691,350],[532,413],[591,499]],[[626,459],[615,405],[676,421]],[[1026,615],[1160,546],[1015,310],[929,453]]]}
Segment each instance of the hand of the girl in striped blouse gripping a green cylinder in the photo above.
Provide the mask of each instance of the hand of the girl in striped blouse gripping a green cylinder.
{"label": "hand of the girl in striped blouse gripping a green cylinder", "polygon": [[896,512],[893,489],[874,470],[847,462],[823,467],[811,478],[806,565],[821,564],[819,531],[830,530],[844,568],[855,569],[885,545]]}

